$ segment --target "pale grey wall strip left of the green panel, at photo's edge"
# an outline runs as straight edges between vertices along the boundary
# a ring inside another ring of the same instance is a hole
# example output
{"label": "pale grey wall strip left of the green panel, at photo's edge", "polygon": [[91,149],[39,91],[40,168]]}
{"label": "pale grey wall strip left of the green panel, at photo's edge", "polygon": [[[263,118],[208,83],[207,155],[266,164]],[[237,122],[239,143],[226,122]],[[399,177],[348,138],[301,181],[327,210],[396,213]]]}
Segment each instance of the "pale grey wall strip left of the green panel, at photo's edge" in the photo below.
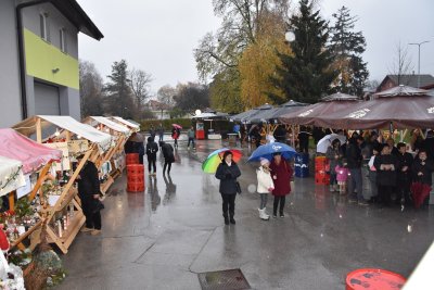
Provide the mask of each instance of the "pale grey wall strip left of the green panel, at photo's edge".
{"label": "pale grey wall strip left of the green panel, at photo's edge", "polygon": [[0,0],[0,128],[22,119],[15,1]]}

